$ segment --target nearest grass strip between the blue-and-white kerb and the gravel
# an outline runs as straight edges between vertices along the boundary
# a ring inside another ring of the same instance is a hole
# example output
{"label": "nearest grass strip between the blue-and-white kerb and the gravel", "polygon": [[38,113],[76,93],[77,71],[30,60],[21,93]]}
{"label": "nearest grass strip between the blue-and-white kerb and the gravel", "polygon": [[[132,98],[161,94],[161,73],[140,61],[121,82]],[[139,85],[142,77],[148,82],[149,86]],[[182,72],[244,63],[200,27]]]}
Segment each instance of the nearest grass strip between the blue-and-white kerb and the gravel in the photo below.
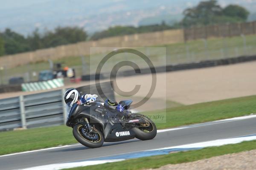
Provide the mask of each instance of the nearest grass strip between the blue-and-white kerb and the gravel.
{"label": "nearest grass strip between the blue-and-white kerb and the gravel", "polygon": [[180,164],[183,162],[197,161],[200,159],[211,158],[213,156],[221,156],[229,153],[238,153],[254,149],[256,149],[256,141],[249,141],[239,144],[227,144],[220,147],[207,147],[201,150],[190,150],[186,152],[170,153],[167,155],[150,156],[65,170],[141,170],[158,168],[166,164]]}

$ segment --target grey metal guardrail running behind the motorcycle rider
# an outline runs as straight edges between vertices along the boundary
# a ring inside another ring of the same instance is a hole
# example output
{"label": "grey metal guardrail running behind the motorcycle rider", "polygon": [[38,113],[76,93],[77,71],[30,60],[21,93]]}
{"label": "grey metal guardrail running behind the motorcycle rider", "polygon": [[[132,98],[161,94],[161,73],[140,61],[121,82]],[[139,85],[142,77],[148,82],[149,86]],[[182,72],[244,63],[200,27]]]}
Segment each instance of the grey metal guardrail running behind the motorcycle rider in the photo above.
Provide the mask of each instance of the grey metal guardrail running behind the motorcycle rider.
{"label": "grey metal guardrail running behind the motorcycle rider", "polygon": [[[104,94],[108,98],[114,99],[111,83],[101,83],[101,87],[105,89]],[[87,85],[79,89],[82,89],[83,93],[98,94],[95,87],[96,85]],[[0,131],[64,124],[66,122],[63,98],[65,90],[0,99]]]}

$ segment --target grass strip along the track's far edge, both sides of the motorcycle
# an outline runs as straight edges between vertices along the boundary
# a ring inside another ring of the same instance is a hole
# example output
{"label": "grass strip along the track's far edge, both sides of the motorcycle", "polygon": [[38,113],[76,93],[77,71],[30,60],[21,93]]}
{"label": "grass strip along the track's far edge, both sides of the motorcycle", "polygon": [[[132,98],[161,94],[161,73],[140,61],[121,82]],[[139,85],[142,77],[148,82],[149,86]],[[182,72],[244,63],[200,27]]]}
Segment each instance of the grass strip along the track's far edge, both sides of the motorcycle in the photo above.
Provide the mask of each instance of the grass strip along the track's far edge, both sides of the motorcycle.
{"label": "grass strip along the track's far edge, both sides of the motorcycle", "polygon": [[[256,96],[179,106],[147,115],[165,116],[154,120],[158,129],[207,122],[256,112]],[[29,130],[0,133],[0,155],[76,143],[72,128],[62,126],[42,127]]]}

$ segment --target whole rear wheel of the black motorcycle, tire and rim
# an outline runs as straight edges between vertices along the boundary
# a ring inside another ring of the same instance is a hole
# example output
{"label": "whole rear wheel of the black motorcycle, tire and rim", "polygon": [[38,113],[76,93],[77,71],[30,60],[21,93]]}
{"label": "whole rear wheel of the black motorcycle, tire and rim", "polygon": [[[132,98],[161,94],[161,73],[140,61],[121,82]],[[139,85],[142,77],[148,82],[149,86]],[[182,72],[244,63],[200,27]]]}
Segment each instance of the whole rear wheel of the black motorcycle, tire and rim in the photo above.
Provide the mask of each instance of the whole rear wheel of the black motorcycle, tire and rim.
{"label": "whole rear wheel of the black motorcycle, tire and rim", "polygon": [[136,119],[144,119],[145,123],[138,123],[139,127],[134,127],[133,131],[136,133],[136,138],[140,140],[150,140],[157,135],[157,127],[151,119],[148,119],[142,114],[134,114]]}

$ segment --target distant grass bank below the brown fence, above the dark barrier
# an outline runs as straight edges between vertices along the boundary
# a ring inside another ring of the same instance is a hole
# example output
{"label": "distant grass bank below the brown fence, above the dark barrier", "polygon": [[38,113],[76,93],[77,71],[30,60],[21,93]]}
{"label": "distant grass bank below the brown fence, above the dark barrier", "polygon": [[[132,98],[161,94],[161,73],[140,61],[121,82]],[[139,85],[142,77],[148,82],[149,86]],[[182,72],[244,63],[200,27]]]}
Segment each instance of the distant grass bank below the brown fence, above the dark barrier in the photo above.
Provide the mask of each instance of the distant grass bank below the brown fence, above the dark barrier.
{"label": "distant grass bank below the brown fence, above the dark barrier", "polygon": [[[166,58],[167,64],[173,63],[183,63],[183,62],[194,62],[205,59],[220,59],[227,57],[238,57],[242,55],[252,55],[256,54],[256,35],[248,35],[246,36],[246,45],[247,48],[244,49],[243,39],[238,37],[227,37],[227,38],[210,38],[207,40],[207,49],[206,52],[205,44],[203,40],[193,40],[188,41],[187,43],[175,43],[175,44],[166,44],[166,45],[154,45],[152,47],[166,47]],[[164,51],[161,49],[144,49],[142,50],[144,54],[146,54],[154,65],[163,65],[163,56],[165,55]],[[104,54],[95,54],[91,56],[91,61],[95,59],[95,63],[90,63],[90,59],[88,56],[84,57],[87,66],[91,65],[92,68],[96,68],[99,64],[99,58],[101,58]],[[124,60],[126,58],[131,61],[140,62],[140,60],[136,60],[133,58],[133,55],[129,54],[120,54],[122,57],[115,58],[116,63],[117,60]],[[208,57],[207,57],[208,56]],[[81,76],[81,57],[80,56],[71,56],[65,57],[61,59],[56,59],[54,62],[63,62],[64,66],[67,65],[69,67],[76,68],[76,75]],[[111,71],[113,68],[111,65],[112,62],[109,63],[109,68],[105,69],[105,71]],[[140,67],[142,65],[139,65]],[[88,67],[84,67],[88,68]],[[15,68],[10,68],[5,71],[3,74],[5,76],[5,82],[8,82],[9,77],[15,76],[24,76],[26,72],[36,71],[39,72],[41,70],[49,69],[48,62],[36,62],[26,65],[20,65]],[[88,73],[89,70],[87,70]],[[92,71],[92,70],[91,70]],[[37,77],[32,77],[32,80],[37,80]]]}

